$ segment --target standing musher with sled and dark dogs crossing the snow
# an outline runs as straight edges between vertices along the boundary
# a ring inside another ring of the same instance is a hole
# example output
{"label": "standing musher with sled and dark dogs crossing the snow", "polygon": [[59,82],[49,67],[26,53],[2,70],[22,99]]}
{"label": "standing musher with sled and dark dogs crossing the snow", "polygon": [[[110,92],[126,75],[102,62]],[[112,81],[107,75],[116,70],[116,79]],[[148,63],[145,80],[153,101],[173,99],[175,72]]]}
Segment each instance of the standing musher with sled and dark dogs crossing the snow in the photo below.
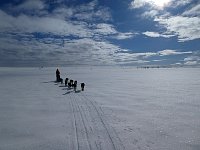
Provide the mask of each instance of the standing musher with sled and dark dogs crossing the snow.
{"label": "standing musher with sled and dark dogs crossing the snow", "polygon": [[[63,79],[60,77],[60,71],[56,70],[56,82],[60,82],[63,84]],[[69,88],[74,88],[74,91],[77,89],[77,81],[71,80],[69,78],[65,78],[65,86]],[[85,83],[81,83],[81,90],[84,91]]]}

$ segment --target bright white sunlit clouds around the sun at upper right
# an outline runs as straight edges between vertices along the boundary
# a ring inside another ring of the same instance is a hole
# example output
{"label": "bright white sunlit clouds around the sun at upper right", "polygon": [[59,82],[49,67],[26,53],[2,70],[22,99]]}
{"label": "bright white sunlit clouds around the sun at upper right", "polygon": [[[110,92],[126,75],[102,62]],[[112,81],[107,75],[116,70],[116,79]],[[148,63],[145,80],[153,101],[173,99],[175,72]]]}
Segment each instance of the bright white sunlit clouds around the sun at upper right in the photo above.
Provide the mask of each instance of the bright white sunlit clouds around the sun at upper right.
{"label": "bright white sunlit clouds around the sun at upper right", "polygon": [[[132,8],[140,8],[147,4],[154,3],[154,0],[134,0],[131,5]],[[179,42],[186,42],[200,38],[200,4],[192,5],[191,0],[171,0],[168,7],[181,7],[190,4],[189,8],[182,14],[171,15],[169,12],[161,11],[156,7],[149,7],[145,9],[141,17],[145,19],[152,19],[166,31],[163,33],[144,32],[146,36],[150,37],[165,37],[169,38],[177,36]]]}

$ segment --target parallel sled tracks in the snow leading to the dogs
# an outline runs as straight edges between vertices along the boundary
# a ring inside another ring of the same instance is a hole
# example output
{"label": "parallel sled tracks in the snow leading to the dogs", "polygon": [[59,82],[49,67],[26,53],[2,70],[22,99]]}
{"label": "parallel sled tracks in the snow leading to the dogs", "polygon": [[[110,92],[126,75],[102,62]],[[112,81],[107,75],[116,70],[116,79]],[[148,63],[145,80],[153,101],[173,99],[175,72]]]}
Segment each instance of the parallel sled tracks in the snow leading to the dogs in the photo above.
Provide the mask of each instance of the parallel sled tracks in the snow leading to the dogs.
{"label": "parallel sled tracks in the snow leading to the dogs", "polygon": [[125,150],[102,109],[82,93],[70,93],[73,132],[71,148],[76,150]]}

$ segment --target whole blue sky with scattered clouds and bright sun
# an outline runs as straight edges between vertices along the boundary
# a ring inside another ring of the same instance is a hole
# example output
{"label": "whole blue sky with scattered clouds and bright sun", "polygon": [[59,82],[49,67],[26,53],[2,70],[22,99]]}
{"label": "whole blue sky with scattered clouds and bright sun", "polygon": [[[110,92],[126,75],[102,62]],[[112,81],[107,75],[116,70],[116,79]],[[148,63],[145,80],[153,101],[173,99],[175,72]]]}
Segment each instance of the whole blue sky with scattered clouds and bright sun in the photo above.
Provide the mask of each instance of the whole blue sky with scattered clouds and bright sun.
{"label": "whole blue sky with scattered clouds and bright sun", "polygon": [[0,66],[70,65],[200,66],[200,1],[0,1]]}

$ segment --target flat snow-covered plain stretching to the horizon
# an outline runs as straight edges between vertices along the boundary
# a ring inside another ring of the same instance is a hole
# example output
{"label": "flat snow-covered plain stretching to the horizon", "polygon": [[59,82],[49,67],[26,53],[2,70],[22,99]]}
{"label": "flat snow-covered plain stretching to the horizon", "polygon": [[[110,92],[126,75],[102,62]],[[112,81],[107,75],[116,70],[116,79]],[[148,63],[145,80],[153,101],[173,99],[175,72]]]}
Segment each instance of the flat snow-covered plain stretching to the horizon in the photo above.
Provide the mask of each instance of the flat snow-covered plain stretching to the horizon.
{"label": "flat snow-covered plain stretching to the horizon", "polygon": [[200,69],[0,68],[0,150],[199,150]]}

